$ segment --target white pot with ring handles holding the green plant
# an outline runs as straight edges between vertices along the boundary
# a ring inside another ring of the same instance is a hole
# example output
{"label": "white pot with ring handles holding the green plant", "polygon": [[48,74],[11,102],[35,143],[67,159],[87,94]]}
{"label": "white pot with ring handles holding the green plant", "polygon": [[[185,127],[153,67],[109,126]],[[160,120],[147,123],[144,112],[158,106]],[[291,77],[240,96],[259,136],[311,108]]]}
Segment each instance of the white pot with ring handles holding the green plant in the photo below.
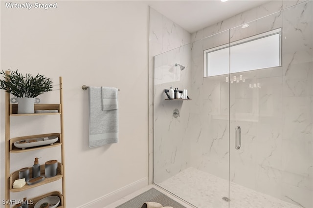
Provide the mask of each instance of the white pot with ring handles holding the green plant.
{"label": "white pot with ring handles holding the green plant", "polygon": [[39,98],[11,98],[12,103],[18,103],[18,114],[35,113],[34,104],[39,104]]}

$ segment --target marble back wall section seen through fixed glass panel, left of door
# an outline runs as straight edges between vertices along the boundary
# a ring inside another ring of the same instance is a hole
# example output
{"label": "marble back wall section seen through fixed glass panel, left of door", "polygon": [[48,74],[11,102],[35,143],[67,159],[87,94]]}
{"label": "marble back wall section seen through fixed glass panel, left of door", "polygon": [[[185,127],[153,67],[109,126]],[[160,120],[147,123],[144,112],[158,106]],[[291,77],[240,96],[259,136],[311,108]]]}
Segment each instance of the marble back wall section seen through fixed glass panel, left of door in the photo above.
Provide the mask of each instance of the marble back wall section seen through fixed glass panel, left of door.
{"label": "marble back wall section seen through fixed glass panel, left of door", "polygon": [[229,43],[229,30],[193,42],[190,166],[228,180],[229,87],[227,75],[203,78],[203,51]]}

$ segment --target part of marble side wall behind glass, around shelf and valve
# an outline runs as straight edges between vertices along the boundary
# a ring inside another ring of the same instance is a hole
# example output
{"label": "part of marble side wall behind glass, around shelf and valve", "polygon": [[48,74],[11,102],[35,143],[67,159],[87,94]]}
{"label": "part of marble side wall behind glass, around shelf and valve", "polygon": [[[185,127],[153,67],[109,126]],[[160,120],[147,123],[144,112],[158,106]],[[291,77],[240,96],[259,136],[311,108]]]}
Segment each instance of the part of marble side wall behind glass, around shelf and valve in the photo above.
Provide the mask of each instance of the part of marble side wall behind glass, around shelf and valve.
{"label": "part of marble side wall behind glass, around shelf and valve", "polygon": [[[191,89],[190,57],[191,44],[157,55],[155,57],[154,100],[154,182],[159,183],[184,170],[190,159],[188,134],[189,113],[192,101],[168,99],[164,89]],[[175,63],[184,65],[180,70]],[[189,96],[191,97],[191,95]],[[179,117],[173,116],[174,109]]]}

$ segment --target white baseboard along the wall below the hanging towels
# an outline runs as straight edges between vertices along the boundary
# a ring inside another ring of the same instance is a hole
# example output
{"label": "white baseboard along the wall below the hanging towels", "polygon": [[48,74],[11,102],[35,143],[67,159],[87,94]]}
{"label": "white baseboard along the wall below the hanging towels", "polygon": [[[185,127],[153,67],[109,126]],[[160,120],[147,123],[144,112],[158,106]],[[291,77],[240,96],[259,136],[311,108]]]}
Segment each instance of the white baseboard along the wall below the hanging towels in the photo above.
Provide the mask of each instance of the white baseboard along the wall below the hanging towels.
{"label": "white baseboard along the wall below the hanging towels", "polygon": [[78,208],[105,208],[107,205],[110,205],[113,202],[133,193],[134,191],[146,187],[147,185],[148,177],[145,177],[125,187],[121,187],[109,194],[106,194],[95,200],[92,200],[91,202],[88,202]]}

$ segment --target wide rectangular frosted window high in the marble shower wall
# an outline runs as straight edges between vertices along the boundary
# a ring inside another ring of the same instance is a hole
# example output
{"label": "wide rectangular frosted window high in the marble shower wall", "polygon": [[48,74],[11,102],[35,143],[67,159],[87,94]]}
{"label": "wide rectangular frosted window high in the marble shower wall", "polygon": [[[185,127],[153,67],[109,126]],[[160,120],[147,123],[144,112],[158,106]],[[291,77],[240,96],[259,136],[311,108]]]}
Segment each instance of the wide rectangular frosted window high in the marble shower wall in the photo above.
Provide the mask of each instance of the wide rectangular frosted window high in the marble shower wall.
{"label": "wide rectangular frosted window high in the marble shower wall", "polygon": [[281,29],[204,51],[204,77],[281,66]]}

